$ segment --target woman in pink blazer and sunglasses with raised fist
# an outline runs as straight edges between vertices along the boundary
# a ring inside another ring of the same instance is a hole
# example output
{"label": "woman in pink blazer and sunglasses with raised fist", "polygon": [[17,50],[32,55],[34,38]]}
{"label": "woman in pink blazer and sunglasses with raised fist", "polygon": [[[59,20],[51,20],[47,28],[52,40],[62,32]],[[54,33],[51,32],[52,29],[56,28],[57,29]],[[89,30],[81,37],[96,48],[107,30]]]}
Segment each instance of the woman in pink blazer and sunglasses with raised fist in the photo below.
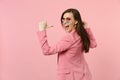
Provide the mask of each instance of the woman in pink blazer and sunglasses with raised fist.
{"label": "woman in pink blazer and sunglasses with raised fist", "polygon": [[58,80],[91,80],[84,53],[97,46],[90,28],[82,21],[76,9],[67,9],[61,16],[61,24],[65,29],[64,36],[55,46],[47,41],[45,21],[39,23],[38,37],[45,55],[58,54]]}

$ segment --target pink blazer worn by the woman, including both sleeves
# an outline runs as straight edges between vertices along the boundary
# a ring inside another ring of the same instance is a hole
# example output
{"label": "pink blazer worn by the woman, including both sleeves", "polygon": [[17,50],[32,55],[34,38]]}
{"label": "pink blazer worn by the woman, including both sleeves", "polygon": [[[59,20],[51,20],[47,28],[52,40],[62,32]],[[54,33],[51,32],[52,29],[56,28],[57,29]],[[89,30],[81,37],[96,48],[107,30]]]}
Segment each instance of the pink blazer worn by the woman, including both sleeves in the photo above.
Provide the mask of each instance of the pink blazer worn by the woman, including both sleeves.
{"label": "pink blazer worn by the woman, including both sleeves", "polygon": [[[90,28],[86,29],[90,37],[90,48],[97,46]],[[37,32],[44,55],[58,53],[58,80],[91,80],[87,62],[82,51],[81,38],[74,30],[67,33],[56,45],[49,46],[46,31]]]}

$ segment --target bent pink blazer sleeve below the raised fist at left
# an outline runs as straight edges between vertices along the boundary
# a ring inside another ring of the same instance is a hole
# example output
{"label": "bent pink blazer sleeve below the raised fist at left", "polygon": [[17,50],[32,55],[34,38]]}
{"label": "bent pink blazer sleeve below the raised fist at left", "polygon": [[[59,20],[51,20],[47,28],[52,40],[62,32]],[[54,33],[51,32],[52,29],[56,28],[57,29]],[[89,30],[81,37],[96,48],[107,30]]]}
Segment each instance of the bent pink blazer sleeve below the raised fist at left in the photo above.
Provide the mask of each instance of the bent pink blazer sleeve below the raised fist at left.
{"label": "bent pink blazer sleeve below the raised fist at left", "polygon": [[70,46],[73,44],[72,35],[67,34],[64,36],[56,45],[49,46],[46,30],[37,32],[40,46],[44,55],[52,55],[55,53],[60,53],[62,51],[68,50]]}

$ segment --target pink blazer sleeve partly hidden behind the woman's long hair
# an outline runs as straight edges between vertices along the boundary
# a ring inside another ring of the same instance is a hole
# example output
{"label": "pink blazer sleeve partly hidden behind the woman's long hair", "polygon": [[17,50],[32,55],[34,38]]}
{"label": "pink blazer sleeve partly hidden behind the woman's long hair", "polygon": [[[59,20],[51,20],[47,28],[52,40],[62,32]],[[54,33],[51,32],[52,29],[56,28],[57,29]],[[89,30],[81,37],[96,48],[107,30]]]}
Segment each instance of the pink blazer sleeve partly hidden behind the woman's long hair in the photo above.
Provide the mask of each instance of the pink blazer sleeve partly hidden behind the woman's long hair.
{"label": "pink blazer sleeve partly hidden behind the woman's long hair", "polygon": [[90,28],[87,28],[86,29],[88,35],[89,35],[89,38],[90,38],[90,48],[95,48],[97,47],[97,43],[96,43],[96,40],[91,32],[91,29]]}

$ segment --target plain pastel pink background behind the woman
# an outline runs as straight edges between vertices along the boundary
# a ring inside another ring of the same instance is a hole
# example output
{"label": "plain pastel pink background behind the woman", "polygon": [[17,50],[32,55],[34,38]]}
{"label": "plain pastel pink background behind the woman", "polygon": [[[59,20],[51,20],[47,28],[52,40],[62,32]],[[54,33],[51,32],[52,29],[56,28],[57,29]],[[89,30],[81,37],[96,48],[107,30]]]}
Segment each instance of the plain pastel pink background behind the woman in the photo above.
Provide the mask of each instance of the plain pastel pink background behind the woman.
{"label": "plain pastel pink background behind the woman", "polygon": [[55,44],[64,34],[61,14],[71,7],[97,40],[85,54],[93,80],[120,80],[120,0],[0,0],[0,80],[56,80],[56,55],[41,53],[36,31],[47,20]]}

